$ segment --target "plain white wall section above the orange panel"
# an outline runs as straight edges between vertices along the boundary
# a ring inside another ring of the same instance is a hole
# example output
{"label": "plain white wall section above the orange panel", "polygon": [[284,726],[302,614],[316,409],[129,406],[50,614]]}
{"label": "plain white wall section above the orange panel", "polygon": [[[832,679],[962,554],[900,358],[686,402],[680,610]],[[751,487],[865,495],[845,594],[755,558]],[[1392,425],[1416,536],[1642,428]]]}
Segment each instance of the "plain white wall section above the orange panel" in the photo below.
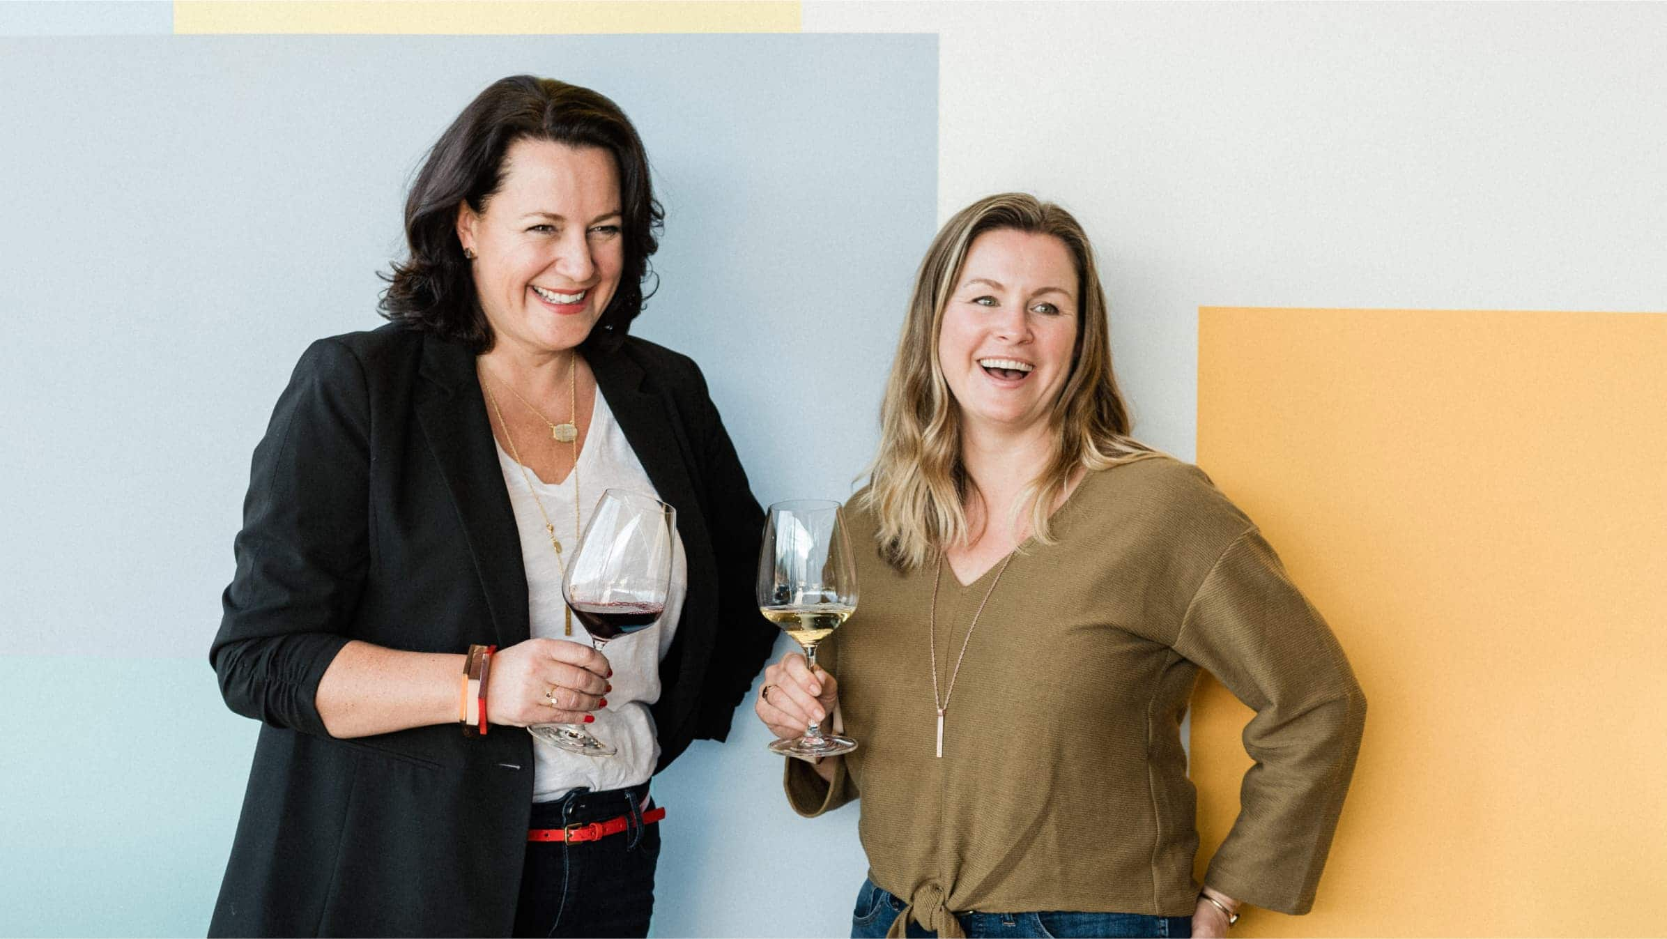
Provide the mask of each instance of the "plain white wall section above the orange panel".
{"label": "plain white wall section above the orange panel", "polygon": [[[1072,208],[1137,434],[1197,309],[1667,310],[1667,5],[818,2],[939,35],[939,217]],[[1207,469],[1207,467],[1205,467]]]}

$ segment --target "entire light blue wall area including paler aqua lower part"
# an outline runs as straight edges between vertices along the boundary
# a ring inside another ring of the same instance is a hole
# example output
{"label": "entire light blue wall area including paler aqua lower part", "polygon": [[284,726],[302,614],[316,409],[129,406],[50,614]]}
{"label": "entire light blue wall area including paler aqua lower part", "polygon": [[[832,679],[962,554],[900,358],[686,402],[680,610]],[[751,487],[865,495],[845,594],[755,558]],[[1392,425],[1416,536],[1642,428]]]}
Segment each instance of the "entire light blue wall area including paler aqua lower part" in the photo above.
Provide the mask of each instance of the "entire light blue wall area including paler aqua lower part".
{"label": "entire light blue wall area including paler aqua lower part", "polygon": [[[703,365],[760,500],[850,492],[935,223],[935,37],[0,38],[0,934],[207,927],[255,737],[207,664],[250,452],[312,339],[380,325],[423,150],[517,72],[638,123],[635,329]],[[855,811],[792,816],[750,704],[657,781],[658,936],[847,929]]]}

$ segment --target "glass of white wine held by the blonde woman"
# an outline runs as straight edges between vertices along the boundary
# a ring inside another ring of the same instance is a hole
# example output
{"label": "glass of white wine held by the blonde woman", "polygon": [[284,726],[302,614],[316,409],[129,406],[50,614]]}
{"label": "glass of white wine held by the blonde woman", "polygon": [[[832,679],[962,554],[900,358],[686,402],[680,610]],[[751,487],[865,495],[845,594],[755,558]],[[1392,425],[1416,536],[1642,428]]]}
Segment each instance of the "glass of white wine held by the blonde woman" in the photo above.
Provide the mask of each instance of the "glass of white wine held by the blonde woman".
{"label": "glass of white wine held by the blonde woman", "polygon": [[[758,550],[758,612],[793,637],[812,670],[817,644],[857,612],[857,564],[845,540],[839,502],[795,499],[770,505]],[[849,754],[857,741],[812,722],[773,752],[807,761]]]}

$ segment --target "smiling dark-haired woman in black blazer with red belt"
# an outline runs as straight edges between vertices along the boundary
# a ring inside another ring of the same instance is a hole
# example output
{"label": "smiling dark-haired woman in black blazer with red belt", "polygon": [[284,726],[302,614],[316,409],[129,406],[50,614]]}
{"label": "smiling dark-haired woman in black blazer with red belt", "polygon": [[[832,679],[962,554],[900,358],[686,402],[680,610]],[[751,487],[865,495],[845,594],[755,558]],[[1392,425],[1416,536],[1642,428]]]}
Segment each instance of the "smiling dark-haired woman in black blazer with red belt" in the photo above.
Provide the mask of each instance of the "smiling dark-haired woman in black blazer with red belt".
{"label": "smiling dark-haired woman in black blazer with red belt", "polygon": [[[503,78],[430,150],[392,322],[315,342],[255,449],[210,660],[263,727],[212,934],[647,934],[648,779],[775,639],[700,370],[628,335],[660,220],[588,88]],[[677,537],[663,615],[603,657],[562,569],[610,487]],[[517,729],[560,722],[617,754]]]}

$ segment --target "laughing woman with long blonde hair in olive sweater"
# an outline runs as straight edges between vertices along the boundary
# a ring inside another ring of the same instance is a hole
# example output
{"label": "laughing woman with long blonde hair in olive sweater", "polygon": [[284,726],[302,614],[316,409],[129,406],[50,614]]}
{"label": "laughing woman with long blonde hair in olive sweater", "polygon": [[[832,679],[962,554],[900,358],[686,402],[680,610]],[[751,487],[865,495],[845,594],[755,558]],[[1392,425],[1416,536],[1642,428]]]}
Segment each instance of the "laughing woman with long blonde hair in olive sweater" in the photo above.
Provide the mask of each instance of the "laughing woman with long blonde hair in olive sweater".
{"label": "laughing woman with long blonde hair in olive sweater", "polygon": [[[1130,437],[1094,250],[1064,208],[984,198],[920,265],[849,525],[860,610],[765,670],[795,811],[862,799],[852,936],[1222,936],[1307,912],[1365,697],[1257,527]],[[1180,724],[1200,669],[1257,716],[1204,884]],[[834,674],[840,677],[835,680]]]}

